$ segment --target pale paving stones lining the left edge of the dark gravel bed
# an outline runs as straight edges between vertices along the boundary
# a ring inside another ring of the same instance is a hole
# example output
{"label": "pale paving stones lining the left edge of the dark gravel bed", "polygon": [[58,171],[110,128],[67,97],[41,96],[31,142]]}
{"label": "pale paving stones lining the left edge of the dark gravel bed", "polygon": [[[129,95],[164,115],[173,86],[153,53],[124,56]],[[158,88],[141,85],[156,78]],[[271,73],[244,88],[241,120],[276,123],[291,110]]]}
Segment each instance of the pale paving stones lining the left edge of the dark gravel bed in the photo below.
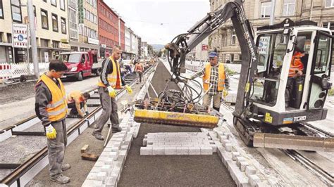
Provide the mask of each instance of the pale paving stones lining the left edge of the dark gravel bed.
{"label": "pale paving stones lining the left edge of the dark gravel bed", "polygon": [[[154,73],[151,73],[148,79],[151,80],[153,75]],[[149,83],[147,82],[146,84]],[[146,92],[147,89],[143,87],[135,100],[143,99]],[[101,115],[101,111],[99,111],[99,115]],[[120,127],[122,131],[111,136],[106,148],[104,148],[94,167],[90,170],[82,186],[117,186],[132,139],[137,138],[140,130],[140,123],[135,122],[133,115],[128,112],[124,115],[122,122],[120,122]]]}

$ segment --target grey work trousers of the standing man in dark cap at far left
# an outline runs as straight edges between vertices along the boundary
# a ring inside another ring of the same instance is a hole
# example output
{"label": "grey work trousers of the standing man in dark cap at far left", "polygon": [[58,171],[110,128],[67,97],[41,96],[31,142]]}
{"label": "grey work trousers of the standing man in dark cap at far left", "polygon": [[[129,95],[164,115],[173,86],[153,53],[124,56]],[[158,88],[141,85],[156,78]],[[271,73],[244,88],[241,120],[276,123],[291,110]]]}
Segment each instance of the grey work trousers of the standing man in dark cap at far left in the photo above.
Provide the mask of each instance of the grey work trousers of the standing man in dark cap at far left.
{"label": "grey work trousers of the standing man in dark cap at far left", "polygon": [[65,148],[67,145],[66,122],[51,122],[52,127],[56,129],[56,138],[53,140],[47,139],[47,150],[49,156],[50,176],[56,178],[63,172],[61,166],[63,165]]}

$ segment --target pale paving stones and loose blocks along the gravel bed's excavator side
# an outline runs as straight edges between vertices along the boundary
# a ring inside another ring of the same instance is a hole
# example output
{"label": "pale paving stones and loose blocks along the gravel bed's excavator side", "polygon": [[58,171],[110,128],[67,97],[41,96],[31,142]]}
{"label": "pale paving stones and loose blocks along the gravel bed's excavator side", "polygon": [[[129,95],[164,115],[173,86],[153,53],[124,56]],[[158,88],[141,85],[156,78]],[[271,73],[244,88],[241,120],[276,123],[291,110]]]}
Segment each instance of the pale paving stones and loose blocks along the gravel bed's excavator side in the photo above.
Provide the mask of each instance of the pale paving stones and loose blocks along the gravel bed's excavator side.
{"label": "pale paving stones and loose blocks along the gravel bed's excavator side", "polygon": [[277,179],[267,177],[263,171],[259,170],[259,168],[264,170],[264,167],[259,167],[259,162],[251,155],[246,155],[245,151],[240,151],[239,144],[230,131],[221,127],[213,131],[201,130],[211,136],[223,165],[228,169],[237,186],[275,186],[277,184]]}

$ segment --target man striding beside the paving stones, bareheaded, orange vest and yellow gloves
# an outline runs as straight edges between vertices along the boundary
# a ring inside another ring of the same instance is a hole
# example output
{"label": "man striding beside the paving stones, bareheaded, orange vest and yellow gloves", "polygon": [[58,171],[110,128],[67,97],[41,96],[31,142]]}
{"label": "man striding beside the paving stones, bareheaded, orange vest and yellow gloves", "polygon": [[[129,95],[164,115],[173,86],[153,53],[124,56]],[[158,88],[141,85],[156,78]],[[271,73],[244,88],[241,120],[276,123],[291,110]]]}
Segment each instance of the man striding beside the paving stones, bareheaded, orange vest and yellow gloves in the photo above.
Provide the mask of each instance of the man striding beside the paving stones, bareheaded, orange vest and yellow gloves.
{"label": "man striding beside the paving stones, bareheaded, orange vest and yellow gloves", "polygon": [[[117,133],[122,129],[119,127],[118,122],[118,113],[117,113],[117,103],[116,103],[116,90],[121,89],[121,85],[125,85],[125,81],[120,77],[120,65],[117,60],[120,58],[122,51],[120,46],[113,47],[113,53],[109,58],[106,58],[102,62],[102,72],[99,77],[98,82],[98,91],[102,106],[102,114],[97,119],[97,124],[92,133],[95,138],[103,141],[104,137],[101,135],[101,131],[104,127],[104,124],[111,121],[111,128],[113,133]],[[132,93],[132,89],[130,86],[125,85],[125,89],[128,93]]]}

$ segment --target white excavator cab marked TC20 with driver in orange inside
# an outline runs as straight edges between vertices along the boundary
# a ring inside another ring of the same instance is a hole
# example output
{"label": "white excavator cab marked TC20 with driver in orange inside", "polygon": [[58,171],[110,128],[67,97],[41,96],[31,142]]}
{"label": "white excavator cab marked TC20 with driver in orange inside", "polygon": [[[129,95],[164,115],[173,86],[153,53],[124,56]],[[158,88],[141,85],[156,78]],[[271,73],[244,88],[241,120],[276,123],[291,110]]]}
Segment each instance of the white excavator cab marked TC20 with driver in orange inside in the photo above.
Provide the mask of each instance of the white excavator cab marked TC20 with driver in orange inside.
{"label": "white excavator cab marked TC20 with driver in orange inside", "polygon": [[315,25],[287,19],[259,28],[249,117],[276,126],[326,118],[332,37]]}

